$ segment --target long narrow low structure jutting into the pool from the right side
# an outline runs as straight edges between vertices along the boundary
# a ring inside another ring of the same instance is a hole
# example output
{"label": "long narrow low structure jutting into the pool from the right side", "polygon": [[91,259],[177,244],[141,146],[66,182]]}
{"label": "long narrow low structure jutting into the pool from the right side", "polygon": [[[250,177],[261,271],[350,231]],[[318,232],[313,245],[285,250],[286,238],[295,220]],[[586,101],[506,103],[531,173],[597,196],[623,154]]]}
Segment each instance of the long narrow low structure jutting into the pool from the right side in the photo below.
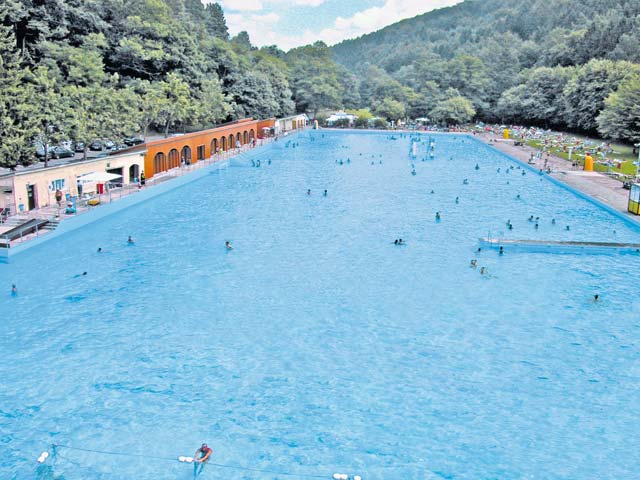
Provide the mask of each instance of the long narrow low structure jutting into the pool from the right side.
{"label": "long narrow low structure jutting into the pool from the right side", "polygon": [[536,253],[630,253],[640,254],[640,243],[617,242],[577,242],[559,240],[507,240],[502,238],[481,238],[482,248],[502,249],[505,252]]}

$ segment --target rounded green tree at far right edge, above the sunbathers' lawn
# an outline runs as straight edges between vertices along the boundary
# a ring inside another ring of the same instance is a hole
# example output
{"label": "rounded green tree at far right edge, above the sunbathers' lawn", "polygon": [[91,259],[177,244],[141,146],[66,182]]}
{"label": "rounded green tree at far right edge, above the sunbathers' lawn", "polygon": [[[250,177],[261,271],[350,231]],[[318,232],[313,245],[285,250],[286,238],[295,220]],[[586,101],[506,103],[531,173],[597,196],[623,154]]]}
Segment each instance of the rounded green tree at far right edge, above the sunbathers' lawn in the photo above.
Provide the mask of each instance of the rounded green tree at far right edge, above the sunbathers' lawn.
{"label": "rounded green tree at far right edge, above the sunbathers' lawn", "polygon": [[640,75],[627,78],[605,100],[598,131],[614,140],[640,142]]}

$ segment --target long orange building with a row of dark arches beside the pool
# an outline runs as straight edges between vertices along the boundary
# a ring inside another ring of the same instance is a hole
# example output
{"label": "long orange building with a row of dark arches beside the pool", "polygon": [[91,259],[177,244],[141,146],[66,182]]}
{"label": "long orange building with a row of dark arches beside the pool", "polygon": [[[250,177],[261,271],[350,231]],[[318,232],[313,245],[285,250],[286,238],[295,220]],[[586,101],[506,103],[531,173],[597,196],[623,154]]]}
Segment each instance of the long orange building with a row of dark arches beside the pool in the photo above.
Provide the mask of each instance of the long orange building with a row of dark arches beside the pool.
{"label": "long orange building with a row of dark arches beside the pool", "polygon": [[254,139],[263,138],[275,126],[275,119],[253,120],[247,118],[230,122],[220,127],[185,135],[151,140],[138,148],[145,149],[144,175],[156,173],[205,160],[216,153],[247,145]]}

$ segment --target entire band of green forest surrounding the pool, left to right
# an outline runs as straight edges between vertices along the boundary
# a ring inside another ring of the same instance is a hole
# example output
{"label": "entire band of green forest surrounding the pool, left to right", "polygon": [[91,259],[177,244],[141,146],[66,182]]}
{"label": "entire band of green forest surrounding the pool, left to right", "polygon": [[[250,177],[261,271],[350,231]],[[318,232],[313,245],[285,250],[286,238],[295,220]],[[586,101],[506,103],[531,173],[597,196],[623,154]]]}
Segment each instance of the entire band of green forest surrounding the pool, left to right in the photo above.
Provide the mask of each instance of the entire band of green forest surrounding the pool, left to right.
{"label": "entire band of green forest surrounding the pool, left to right", "polygon": [[640,141],[639,45],[638,0],[466,0],[286,53],[230,38],[201,0],[3,0],[0,167],[63,139],[327,108]]}

